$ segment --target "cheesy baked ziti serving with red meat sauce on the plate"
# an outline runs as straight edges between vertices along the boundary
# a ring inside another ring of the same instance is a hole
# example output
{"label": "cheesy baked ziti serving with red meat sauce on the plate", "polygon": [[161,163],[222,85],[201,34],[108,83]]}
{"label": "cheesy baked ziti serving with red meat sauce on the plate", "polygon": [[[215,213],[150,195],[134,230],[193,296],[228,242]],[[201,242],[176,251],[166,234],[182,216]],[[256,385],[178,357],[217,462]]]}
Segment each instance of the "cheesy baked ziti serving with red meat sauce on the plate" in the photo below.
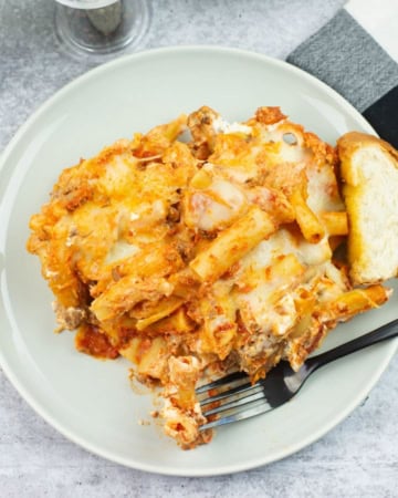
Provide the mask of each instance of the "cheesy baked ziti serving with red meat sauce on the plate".
{"label": "cheesy baked ziti serving with red meat sauce on the plate", "polygon": [[228,123],[203,106],[64,169],[28,250],[59,331],[161,386],[166,434],[211,439],[195,388],[297,370],[338,322],[386,302],[354,287],[336,149],[279,107]]}

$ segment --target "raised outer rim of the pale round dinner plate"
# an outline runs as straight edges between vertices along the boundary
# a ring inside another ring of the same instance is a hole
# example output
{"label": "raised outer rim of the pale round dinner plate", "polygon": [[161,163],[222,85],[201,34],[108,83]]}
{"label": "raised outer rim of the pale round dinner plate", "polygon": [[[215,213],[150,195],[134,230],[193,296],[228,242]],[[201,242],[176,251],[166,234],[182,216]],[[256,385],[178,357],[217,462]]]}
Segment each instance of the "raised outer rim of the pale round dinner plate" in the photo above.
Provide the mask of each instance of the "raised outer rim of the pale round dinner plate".
{"label": "raised outer rim of the pale round dinner plate", "polygon": [[[374,128],[369,125],[369,123],[362,116],[362,114],[349,103],[347,102],[341,94],[338,94],[335,90],[333,90],[331,86],[328,86],[326,83],[322,82],[317,77],[313,76],[312,74],[305,72],[304,70],[296,68],[295,65],[285,62],[280,59],[274,59],[272,56],[265,55],[261,52],[252,51],[252,50],[244,50],[244,49],[237,49],[237,48],[230,48],[230,46],[221,46],[221,45],[208,45],[208,44],[192,44],[192,45],[174,45],[174,46],[165,46],[165,48],[157,48],[157,49],[149,49],[149,50],[143,50],[140,52],[136,52],[133,54],[125,54],[117,59],[114,59],[112,61],[107,61],[101,65],[97,65],[95,68],[92,68],[87,71],[85,71],[83,74],[78,75],[77,77],[73,79],[65,85],[63,85],[61,89],[59,89],[53,95],[51,95],[49,98],[46,98],[44,102],[42,102],[38,108],[35,108],[30,116],[24,121],[24,123],[17,129],[12,138],[9,141],[9,143],[6,145],[6,148],[2,151],[0,155],[0,180],[4,180],[4,188],[6,190],[9,187],[9,181],[12,178],[12,172],[10,175],[10,178],[3,178],[4,175],[4,167],[7,165],[7,160],[9,155],[12,153],[14,145],[23,138],[23,135],[27,129],[30,128],[31,124],[34,123],[38,118],[41,117],[42,114],[46,112],[49,107],[51,107],[53,104],[55,104],[59,100],[62,100],[65,94],[69,92],[73,92],[74,87],[78,87],[80,84],[84,83],[85,81],[101,76],[101,74],[106,73],[109,71],[111,68],[116,68],[124,64],[134,64],[135,60],[139,59],[146,59],[151,56],[161,56],[161,55],[172,55],[175,53],[182,53],[182,52],[212,52],[218,54],[231,54],[242,58],[251,58],[256,59],[259,63],[265,63],[270,64],[272,66],[282,68],[283,70],[287,70],[290,72],[293,72],[300,76],[302,80],[306,80],[311,82],[312,84],[315,84],[316,86],[321,87],[324,92],[326,92],[328,95],[333,97],[335,102],[337,102],[338,105],[342,105],[345,110],[349,111],[350,113],[354,112],[356,117],[362,122],[362,125],[364,128],[369,129],[369,133],[376,132]],[[7,172],[6,172],[7,173]],[[0,253],[1,256],[1,253]],[[0,273],[3,272],[3,267],[0,267]],[[3,300],[3,298],[2,298]],[[8,317],[7,313],[4,313],[4,322],[9,328],[8,323]],[[341,424],[362,402],[363,400],[368,395],[368,393],[374,388],[374,386],[379,381],[381,374],[386,371],[387,366],[389,365],[391,359],[394,357],[396,351],[398,350],[398,339],[391,340],[388,343],[384,343],[384,347],[386,350],[385,356],[383,362],[379,362],[377,365],[377,369],[375,372],[373,372],[373,375],[369,380],[369,382],[366,384],[365,387],[363,387],[359,392],[357,392],[356,396],[352,400],[352,402],[345,406],[345,409],[339,411],[339,413],[331,419],[328,423],[323,424],[318,430],[311,434],[311,436],[307,436],[304,439],[301,439],[295,445],[285,446],[283,449],[280,449],[279,452],[273,452],[272,456],[268,457],[264,455],[262,458],[252,458],[247,459],[243,463],[239,464],[231,464],[227,466],[218,466],[216,469],[195,469],[191,468],[189,470],[182,469],[182,471],[179,471],[178,468],[171,468],[166,467],[163,468],[158,465],[148,465],[148,464],[142,464],[139,461],[132,461],[132,459],[117,456],[115,453],[111,453],[108,450],[103,450],[101,448],[101,445],[91,444],[90,442],[85,440],[84,437],[81,437],[73,433],[73,430],[70,430],[69,428],[64,427],[62,423],[60,423],[56,418],[52,417],[51,414],[46,413],[45,407],[41,406],[39,402],[35,401],[34,395],[30,393],[29,388],[27,388],[22,382],[19,381],[18,375],[13,372],[11,365],[8,362],[7,355],[0,350],[0,367],[2,369],[4,375],[8,377],[12,386],[17,390],[17,392],[22,396],[22,398],[30,405],[30,407],[41,417],[43,418],[50,426],[54,427],[60,434],[62,434],[64,437],[66,437],[72,443],[76,444],[81,448],[84,448],[85,450],[97,455],[102,458],[105,458],[109,461],[114,461],[116,464],[123,465],[128,468],[134,468],[137,470],[146,471],[146,473],[153,473],[158,475],[168,475],[168,476],[179,476],[179,477],[210,477],[210,476],[220,476],[226,474],[235,474],[253,468],[258,468],[261,466],[269,465],[271,463],[281,460],[283,458],[286,458],[298,450],[310,446],[311,444],[315,443],[323,436],[325,436],[328,432],[331,432],[334,427],[336,427],[338,424]]]}

